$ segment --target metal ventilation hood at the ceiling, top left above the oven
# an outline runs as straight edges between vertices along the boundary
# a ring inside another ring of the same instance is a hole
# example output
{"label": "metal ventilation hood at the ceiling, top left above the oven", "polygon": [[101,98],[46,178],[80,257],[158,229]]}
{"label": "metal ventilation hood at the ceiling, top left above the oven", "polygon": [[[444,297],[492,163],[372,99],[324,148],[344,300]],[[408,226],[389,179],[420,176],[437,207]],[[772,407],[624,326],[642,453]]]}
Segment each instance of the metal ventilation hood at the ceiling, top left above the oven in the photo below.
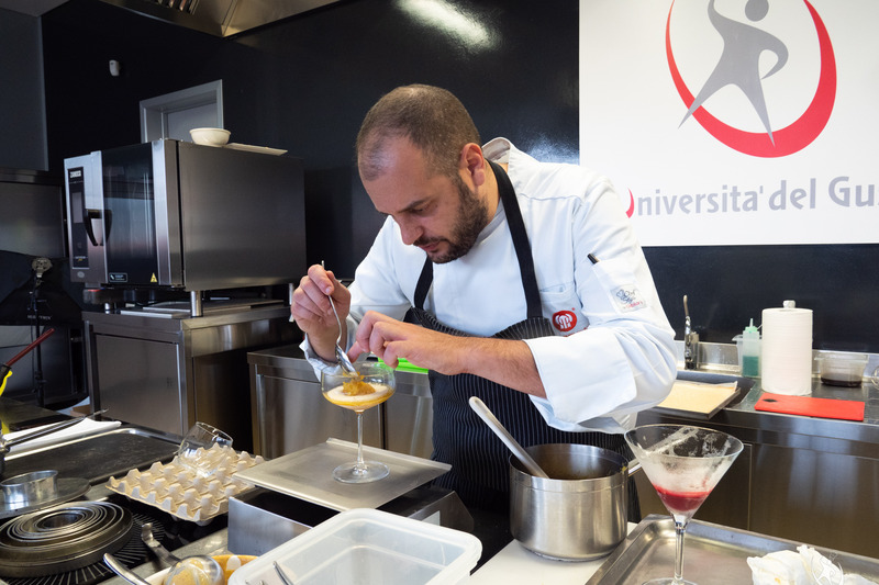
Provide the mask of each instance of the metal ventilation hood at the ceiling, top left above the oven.
{"label": "metal ventilation hood at the ceiling, top left above the oven", "polygon": [[338,0],[102,0],[216,36],[231,36]]}

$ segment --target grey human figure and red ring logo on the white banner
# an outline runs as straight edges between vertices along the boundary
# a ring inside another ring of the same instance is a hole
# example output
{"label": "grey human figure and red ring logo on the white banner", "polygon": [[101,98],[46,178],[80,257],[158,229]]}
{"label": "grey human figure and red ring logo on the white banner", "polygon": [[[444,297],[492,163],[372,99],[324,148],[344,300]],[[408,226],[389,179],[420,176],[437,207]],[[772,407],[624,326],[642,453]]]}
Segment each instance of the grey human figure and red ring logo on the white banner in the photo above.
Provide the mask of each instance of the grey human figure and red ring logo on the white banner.
{"label": "grey human figure and red ring logo on the white banner", "polygon": [[[833,113],[836,99],[836,58],[833,54],[830,34],[827,34],[827,29],[817,11],[809,0],[802,0],[802,3],[814,23],[817,35],[821,60],[817,87],[809,106],[797,120],[783,128],[772,130],[769,125],[764,99],[763,80],[778,72],[787,63],[788,49],[785,44],[764,30],[722,16],[714,9],[714,0],[710,0],[709,16],[714,27],[723,36],[724,48],[714,71],[699,94],[693,97],[678,69],[671,48],[671,13],[675,10],[675,0],[671,1],[666,20],[666,57],[675,89],[678,90],[678,94],[688,109],[681,124],[692,116],[721,143],[739,153],[756,157],[788,156],[805,148],[817,138]],[[752,21],[759,21],[766,16],[768,10],[768,0],[748,0],[745,15]],[[686,30],[681,34],[687,34]],[[760,77],[758,59],[765,50],[775,54],[776,63],[765,76]],[[765,132],[736,128],[722,122],[706,110],[705,100],[728,85],[738,87],[745,93],[763,121]]]}

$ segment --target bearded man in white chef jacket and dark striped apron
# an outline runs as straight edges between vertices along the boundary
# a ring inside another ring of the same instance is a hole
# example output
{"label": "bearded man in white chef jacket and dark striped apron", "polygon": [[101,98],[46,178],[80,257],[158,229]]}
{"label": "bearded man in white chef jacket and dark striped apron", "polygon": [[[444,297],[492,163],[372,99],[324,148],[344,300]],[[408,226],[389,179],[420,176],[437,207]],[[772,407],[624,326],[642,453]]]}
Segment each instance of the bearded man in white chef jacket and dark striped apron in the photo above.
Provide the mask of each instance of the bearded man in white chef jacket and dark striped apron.
{"label": "bearded man in white chef jacket and dark striped apron", "polygon": [[[387,215],[349,289],[312,266],[293,293],[302,349],[430,370],[437,480],[465,504],[508,505],[509,451],[479,396],[524,445],[625,453],[622,432],[675,379],[674,330],[620,198],[596,172],[485,146],[464,105],[430,86],[382,97],[357,136],[360,179]],[[389,424],[393,424],[390,421]]]}

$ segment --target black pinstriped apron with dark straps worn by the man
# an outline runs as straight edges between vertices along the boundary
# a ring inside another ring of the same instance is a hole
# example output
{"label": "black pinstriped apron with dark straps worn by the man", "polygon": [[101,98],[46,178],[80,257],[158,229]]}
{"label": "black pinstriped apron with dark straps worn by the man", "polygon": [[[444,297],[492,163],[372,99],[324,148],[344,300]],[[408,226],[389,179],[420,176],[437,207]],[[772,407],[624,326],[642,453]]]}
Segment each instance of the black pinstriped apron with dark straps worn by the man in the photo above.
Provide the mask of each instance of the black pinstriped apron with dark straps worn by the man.
{"label": "black pinstriped apron with dark straps worn by the man", "polygon": [[[533,339],[555,335],[549,319],[543,316],[531,245],[513,185],[502,167],[491,162],[491,168],[498,179],[527,303],[525,320],[511,325],[492,337]],[[423,327],[467,337],[469,334],[445,326],[433,314],[424,311],[424,301],[432,283],[433,262],[429,258],[415,288],[412,315]],[[510,491],[510,451],[470,408],[467,402],[470,396],[479,396],[522,446],[586,443],[631,458],[622,435],[568,432],[548,426],[523,392],[472,374],[444,375],[431,371],[429,378],[433,395],[432,459],[452,465],[452,470],[435,483],[455,490],[467,506],[505,510],[509,507]],[[630,493],[634,494],[634,490],[630,490]],[[631,517],[637,517],[636,504],[633,508],[630,503],[630,511],[634,513]]]}

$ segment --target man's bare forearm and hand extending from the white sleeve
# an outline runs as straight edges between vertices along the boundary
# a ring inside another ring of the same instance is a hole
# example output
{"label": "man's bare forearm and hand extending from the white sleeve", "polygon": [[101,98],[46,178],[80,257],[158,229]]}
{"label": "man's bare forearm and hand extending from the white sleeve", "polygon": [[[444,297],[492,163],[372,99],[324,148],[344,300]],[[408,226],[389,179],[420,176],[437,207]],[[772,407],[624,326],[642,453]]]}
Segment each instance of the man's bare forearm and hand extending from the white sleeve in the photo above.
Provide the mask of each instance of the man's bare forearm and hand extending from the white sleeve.
{"label": "man's bare forearm and hand extending from the white sleeve", "polygon": [[368,311],[357,327],[348,357],[354,361],[367,351],[391,368],[397,368],[400,358],[405,358],[414,365],[441,374],[475,374],[546,397],[534,356],[524,341],[441,334]]}

